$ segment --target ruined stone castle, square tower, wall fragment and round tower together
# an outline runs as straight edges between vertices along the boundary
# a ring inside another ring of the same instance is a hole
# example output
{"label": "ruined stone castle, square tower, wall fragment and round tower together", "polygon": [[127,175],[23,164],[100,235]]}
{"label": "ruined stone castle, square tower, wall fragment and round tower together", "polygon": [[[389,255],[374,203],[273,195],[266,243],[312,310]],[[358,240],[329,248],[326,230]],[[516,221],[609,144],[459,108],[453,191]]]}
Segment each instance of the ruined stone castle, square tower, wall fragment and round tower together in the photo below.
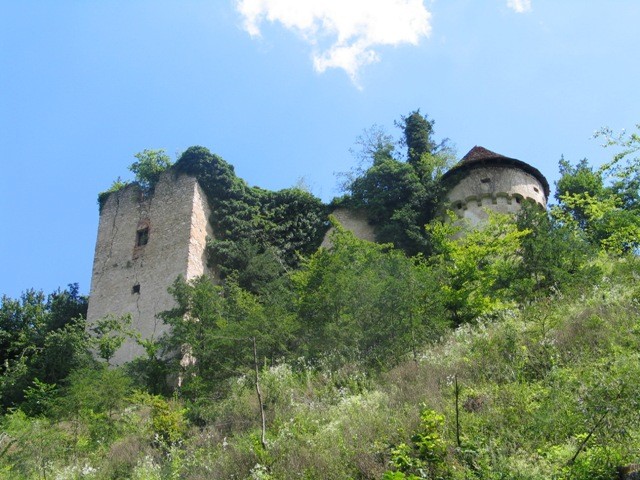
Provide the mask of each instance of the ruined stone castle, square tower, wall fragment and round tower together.
{"label": "ruined stone castle, square tower, wall fragment and round tower together", "polygon": [[[524,201],[546,207],[549,196],[549,184],[536,168],[483,147],[474,147],[442,180],[447,208],[472,225],[486,219],[487,210],[516,213]],[[131,184],[110,194],[100,209],[88,322],[130,315],[142,338],[164,333],[168,327],[157,315],[175,306],[168,289],[176,278],[215,278],[206,258],[207,237],[215,235],[210,213],[197,180],[172,170],[161,176],[152,193]],[[356,236],[375,238],[363,212],[341,209],[334,216]],[[143,353],[128,340],[112,363],[120,365]]]}

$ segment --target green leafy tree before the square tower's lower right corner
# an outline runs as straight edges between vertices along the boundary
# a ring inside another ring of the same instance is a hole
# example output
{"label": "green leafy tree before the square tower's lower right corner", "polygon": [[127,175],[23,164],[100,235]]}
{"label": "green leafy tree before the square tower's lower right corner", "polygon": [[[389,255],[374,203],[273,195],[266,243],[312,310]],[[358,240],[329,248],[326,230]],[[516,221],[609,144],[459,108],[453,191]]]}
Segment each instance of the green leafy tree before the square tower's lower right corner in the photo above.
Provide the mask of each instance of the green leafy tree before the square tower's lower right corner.
{"label": "green leafy tree before the square tower's lower right corner", "polygon": [[263,359],[278,358],[290,341],[286,318],[274,321],[253,294],[234,282],[220,286],[206,277],[178,279],[171,291],[177,307],[162,314],[172,327],[165,342],[170,351],[182,351],[173,368],[187,398],[224,393],[224,380],[251,371],[252,338]]}

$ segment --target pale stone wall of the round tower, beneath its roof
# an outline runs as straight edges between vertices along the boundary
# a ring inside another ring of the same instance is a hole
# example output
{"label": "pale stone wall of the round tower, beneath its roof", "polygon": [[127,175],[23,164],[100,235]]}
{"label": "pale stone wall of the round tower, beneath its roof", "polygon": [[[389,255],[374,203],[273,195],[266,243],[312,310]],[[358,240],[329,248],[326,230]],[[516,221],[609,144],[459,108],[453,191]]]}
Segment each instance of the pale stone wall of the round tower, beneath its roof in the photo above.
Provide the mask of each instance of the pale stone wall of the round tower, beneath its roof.
{"label": "pale stone wall of the round tower, beneath its roof", "polygon": [[448,208],[471,225],[487,219],[487,209],[516,213],[525,201],[545,207],[544,187],[524,170],[493,166],[470,170],[447,195]]}

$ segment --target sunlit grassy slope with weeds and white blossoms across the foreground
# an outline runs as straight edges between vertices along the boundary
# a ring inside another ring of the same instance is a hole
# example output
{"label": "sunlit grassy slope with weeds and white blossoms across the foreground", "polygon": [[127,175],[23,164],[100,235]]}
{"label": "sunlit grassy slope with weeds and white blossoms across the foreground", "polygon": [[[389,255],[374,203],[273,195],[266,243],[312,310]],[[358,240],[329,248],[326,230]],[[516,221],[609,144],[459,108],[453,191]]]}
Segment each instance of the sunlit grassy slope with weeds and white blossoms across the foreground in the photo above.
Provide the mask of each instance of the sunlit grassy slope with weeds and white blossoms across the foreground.
{"label": "sunlit grassy slope with weeds and white blossoms across the foreground", "polygon": [[266,451],[247,377],[202,403],[200,427],[148,395],[102,430],[8,415],[0,477],[616,478],[640,448],[640,261],[602,267],[588,289],[462,327],[376,378],[355,365],[265,370]]}

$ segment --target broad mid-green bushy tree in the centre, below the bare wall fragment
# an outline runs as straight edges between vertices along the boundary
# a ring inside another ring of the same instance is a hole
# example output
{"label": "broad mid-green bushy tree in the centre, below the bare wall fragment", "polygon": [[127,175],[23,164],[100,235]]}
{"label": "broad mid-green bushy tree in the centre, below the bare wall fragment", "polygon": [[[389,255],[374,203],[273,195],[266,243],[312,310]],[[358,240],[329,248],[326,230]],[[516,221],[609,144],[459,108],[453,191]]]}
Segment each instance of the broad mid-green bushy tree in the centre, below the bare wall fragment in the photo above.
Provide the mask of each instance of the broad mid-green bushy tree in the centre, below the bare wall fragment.
{"label": "broad mid-green bushy tree in the centre, below the bare wall fragment", "polygon": [[[332,247],[293,275],[307,358],[384,366],[441,331],[425,263],[334,225]],[[434,301],[435,300],[435,301]]]}

